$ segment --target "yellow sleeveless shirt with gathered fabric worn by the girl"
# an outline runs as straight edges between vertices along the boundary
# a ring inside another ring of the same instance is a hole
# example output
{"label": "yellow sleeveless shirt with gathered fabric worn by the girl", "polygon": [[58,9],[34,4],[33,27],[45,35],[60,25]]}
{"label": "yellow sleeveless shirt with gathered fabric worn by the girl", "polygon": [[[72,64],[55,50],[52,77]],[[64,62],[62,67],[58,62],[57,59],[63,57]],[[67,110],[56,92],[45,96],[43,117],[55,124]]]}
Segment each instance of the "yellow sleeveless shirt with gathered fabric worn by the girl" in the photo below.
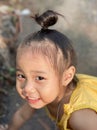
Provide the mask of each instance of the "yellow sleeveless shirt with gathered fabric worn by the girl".
{"label": "yellow sleeveless shirt with gathered fabric worn by the girl", "polygon": [[73,91],[70,102],[64,104],[64,114],[58,123],[61,130],[67,129],[71,113],[76,110],[90,108],[97,112],[97,77],[78,74],[79,82]]}

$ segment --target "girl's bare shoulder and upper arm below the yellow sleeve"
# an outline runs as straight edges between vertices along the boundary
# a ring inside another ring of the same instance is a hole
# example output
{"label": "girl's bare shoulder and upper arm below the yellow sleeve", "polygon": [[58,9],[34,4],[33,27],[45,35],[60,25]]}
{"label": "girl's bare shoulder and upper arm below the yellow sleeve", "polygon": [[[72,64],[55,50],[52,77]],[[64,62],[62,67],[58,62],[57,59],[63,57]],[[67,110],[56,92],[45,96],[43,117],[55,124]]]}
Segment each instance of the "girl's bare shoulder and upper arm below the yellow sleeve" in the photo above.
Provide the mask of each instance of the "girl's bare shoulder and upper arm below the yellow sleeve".
{"label": "girl's bare shoulder and upper arm below the yellow sleeve", "polygon": [[73,130],[97,130],[97,113],[92,109],[82,109],[71,114],[69,126]]}

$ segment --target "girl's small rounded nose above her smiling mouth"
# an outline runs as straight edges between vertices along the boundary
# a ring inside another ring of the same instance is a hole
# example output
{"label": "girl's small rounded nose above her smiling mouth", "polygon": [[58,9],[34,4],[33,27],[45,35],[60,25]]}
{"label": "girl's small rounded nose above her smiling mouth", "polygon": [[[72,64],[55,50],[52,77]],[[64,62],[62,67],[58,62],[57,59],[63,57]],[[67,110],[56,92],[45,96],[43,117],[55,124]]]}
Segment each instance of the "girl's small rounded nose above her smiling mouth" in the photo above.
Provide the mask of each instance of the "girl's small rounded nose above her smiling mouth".
{"label": "girl's small rounded nose above her smiling mouth", "polygon": [[24,96],[30,96],[32,94],[36,93],[36,88],[34,87],[35,85],[32,82],[27,82],[25,83],[22,93]]}

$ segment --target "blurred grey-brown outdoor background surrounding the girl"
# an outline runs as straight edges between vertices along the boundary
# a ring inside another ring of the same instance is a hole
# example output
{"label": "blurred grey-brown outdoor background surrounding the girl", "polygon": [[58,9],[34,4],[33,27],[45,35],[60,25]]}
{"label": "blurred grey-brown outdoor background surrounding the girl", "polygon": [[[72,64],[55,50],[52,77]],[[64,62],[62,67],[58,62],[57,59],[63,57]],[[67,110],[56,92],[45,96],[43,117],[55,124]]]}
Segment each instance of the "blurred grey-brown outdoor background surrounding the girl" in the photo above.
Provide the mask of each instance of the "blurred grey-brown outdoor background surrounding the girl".
{"label": "blurred grey-brown outdoor background surrounding the girl", "polygon": [[[97,76],[97,0],[0,0],[0,123],[6,124],[23,103],[15,90],[15,53],[22,39],[40,29],[29,16],[54,10],[55,28],[72,41],[77,71]],[[53,130],[45,111],[39,110],[21,130]]]}

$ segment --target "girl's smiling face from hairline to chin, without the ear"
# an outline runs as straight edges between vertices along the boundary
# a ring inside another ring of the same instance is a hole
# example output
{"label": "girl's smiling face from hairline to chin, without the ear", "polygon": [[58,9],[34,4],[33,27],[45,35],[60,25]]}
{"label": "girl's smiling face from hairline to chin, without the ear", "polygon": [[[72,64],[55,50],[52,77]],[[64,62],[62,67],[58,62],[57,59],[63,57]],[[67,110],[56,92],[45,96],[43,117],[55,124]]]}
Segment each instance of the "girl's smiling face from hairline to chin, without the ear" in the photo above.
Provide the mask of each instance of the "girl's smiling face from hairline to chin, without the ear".
{"label": "girl's smiling face from hairline to chin, without the ear", "polygon": [[16,88],[31,107],[42,108],[63,96],[58,75],[47,58],[25,48],[18,52],[16,62]]}

